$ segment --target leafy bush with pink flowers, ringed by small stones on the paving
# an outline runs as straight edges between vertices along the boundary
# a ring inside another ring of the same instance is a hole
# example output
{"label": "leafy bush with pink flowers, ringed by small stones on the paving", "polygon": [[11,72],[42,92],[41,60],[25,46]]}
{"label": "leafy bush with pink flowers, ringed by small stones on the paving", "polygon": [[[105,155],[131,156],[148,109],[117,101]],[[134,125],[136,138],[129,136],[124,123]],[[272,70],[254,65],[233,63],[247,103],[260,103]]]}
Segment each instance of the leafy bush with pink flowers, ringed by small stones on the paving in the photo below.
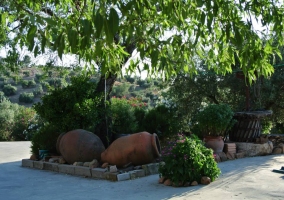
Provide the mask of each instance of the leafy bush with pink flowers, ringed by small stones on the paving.
{"label": "leafy bush with pink flowers, ringed by small stones on the paving", "polygon": [[221,173],[214,160],[213,151],[204,146],[195,135],[179,134],[176,141],[162,149],[159,167],[160,176],[170,179],[175,185],[185,182],[200,182],[203,176],[214,181]]}

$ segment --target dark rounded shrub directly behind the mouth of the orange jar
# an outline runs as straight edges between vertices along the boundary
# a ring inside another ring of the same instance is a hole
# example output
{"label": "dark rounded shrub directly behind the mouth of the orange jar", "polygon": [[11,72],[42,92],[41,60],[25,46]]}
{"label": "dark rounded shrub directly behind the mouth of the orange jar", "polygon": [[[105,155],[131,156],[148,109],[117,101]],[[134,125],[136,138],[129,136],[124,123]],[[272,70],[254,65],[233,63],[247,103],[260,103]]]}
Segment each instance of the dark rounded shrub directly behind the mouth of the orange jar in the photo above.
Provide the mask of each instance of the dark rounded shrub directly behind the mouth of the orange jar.
{"label": "dark rounded shrub directly behind the mouth of the orange jar", "polygon": [[179,131],[179,121],[174,110],[165,105],[158,105],[146,113],[143,126],[146,131],[165,138]]}

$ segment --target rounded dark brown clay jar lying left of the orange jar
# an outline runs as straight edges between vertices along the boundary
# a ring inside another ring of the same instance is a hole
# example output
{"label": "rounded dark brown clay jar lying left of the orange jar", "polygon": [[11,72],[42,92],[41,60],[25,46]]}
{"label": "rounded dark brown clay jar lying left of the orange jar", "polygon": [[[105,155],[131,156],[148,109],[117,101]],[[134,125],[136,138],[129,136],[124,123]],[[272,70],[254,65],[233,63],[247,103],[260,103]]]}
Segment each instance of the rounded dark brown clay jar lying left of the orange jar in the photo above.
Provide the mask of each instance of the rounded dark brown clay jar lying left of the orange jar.
{"label": "rounded dark brown clay jar lying left of the orange jar", "polygon": [[69,164],[100,160],[101,153],[105,150],[98,136],[82,129],[61,134],[57,139],[56,147]]}

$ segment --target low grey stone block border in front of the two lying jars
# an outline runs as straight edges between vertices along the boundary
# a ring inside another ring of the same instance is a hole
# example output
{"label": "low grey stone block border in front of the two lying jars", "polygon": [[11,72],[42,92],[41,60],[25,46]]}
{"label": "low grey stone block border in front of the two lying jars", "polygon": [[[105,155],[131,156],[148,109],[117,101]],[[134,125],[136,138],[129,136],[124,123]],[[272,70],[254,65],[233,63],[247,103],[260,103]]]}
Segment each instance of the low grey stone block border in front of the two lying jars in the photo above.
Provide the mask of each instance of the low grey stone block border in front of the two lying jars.
{"label": "low grey stone block border in front of the two lying jars", "polygon": [[48,170],[63,174],[83,176],[94,179],[105,179],[110,181],[133,180],[152,174],[158,174],[159,165],[160,163],[151,163],[147,165],[142,165],[141,169],[135,169],[128,172],[109,172],[107,168],[89,168],[83,166],[22,159],[22,167]]}

